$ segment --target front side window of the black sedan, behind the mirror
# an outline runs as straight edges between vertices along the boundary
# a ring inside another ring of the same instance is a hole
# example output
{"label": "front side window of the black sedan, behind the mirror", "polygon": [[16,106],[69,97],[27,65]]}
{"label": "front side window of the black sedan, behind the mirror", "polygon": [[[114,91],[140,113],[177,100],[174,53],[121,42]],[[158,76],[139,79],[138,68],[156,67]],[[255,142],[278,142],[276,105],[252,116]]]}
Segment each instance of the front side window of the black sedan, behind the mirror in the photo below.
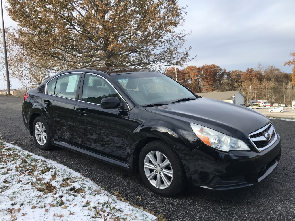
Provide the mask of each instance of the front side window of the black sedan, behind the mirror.
{"label": "front side window of the black sedan, behind the mirror", "polygon": [[121,101],[119,94],[106,80],[96,75],[85,74],[82,100],[100,104],[103,98],[108,97],[117,97]]}

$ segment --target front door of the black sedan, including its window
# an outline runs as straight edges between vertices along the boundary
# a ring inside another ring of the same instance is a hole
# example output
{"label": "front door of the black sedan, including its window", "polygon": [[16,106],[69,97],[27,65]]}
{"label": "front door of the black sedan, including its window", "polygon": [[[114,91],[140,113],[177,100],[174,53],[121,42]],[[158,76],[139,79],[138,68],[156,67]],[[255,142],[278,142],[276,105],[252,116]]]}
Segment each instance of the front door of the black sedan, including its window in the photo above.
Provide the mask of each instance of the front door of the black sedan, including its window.
{"label": "front door of the black sedan, including its window", "polygon": [[83,148],[127,160],[129,111],[102,109],[100,101],[120,95],[98,75],[85,74],[82,98],[76,104],[77,142]]}

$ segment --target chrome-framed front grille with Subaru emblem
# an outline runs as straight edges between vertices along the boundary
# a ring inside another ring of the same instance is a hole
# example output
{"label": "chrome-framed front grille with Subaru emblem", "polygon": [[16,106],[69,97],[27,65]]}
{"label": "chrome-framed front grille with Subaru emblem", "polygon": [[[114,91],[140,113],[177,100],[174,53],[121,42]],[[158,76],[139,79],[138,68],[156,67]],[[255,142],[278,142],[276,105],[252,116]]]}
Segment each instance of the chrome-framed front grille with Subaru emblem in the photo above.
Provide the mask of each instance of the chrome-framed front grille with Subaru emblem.
{"label": "chrome-framed front grille with Subaru emblem", "polygon": [[270,147],[277,139],[277,134],[271,124],[249,134],[250,141],[261,152]]}

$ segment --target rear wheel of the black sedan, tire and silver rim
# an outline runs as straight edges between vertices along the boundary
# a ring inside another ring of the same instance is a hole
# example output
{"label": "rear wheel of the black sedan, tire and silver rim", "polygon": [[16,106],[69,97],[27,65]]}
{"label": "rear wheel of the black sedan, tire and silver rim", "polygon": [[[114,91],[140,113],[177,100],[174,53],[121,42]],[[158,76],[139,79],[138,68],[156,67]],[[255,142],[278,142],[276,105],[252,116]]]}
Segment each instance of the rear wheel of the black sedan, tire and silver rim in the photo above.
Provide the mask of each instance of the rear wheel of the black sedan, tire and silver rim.
{"label": "rear wheel of the black sedan, tire and silver rim", "polygon": [[36,117],[33,123],[33,137],[37,147],[41,150],[51,149],[51,136],[48,125],[42,116]]}

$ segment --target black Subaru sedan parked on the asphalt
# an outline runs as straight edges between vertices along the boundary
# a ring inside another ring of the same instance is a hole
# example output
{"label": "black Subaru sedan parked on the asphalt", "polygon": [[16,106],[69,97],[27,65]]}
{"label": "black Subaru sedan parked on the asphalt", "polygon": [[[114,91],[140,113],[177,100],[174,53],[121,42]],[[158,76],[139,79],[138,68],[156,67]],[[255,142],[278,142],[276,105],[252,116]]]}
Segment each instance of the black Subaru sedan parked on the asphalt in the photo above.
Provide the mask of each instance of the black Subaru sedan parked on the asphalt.
{"label": "black Subaru sedan parked on the asphalt", "polygon": [[266,116],[200,97],[152,70],[58,73],[27,91],[22,116],[40,149],[55,145],[139,171],[163,196],[187,185],[249,187],[281,156],[280,136]]}

